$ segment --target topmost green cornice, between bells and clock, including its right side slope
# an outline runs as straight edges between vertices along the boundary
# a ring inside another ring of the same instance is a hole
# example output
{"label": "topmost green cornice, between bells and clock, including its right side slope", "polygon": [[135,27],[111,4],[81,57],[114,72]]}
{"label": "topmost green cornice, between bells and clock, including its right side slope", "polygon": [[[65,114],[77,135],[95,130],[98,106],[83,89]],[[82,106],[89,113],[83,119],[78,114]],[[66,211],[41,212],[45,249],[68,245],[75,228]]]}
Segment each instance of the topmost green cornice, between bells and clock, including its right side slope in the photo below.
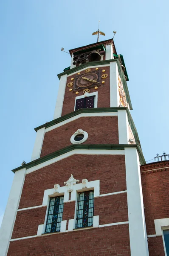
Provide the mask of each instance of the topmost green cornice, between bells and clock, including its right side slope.
{"label": "topmost green cornice, between bells and clock, including its right side slope", "polygon": [[126,98],[127,98],[127,102],[129,102],[129,106],[130,106],[130,110],[132,110],[132,103],[131,103],[131,99],[130,99],[130,94],[129,94],[129,90],[128,90],[128,87],[127,87],[127,81],[124,77],[124,72],[121,71],[121,64],[120,64],[120,61],[118,59],[112,59],[112,60],[105,60],[105,61],[92,61],[90,63],[84,63],[78,67],[73,67],[71,68],[70,70],[67,70],[65,72],[62,72],[60,74],[58,74],[57,76],[59,77],[59,80],[61,78],[61,76],[64,76],[64,75],[70,75],[71,73],[74,73],[74,72],[78,72],[79,70],[82,70],[86,67],[88,67],[89,65],[92,67],[92,66],[100,66],[100,65],[106,65],[106,64],[110,64],[110,62],[117,62],[117,66],[118,66],[118,73],[121,77],[121,81],[123,83],[123,87],[124,87],[124,91],[126,93]]}

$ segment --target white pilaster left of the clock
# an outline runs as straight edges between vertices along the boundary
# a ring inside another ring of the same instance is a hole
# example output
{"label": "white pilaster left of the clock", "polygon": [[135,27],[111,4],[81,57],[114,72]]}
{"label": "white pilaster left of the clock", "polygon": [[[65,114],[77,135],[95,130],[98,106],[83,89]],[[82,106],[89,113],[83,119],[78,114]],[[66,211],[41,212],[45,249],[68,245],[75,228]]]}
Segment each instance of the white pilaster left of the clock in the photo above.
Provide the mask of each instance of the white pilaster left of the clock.
{"label": "white pilaster left of the clock", "polygon": [[59,90],[57,94],[57,100],[56,100],[56,107],[54,111],[54,119],[59,118],[62,114],[62,106],[63,106],[63,100],[65,95],[66,81],[67,81],[67,75],[61,76]]}

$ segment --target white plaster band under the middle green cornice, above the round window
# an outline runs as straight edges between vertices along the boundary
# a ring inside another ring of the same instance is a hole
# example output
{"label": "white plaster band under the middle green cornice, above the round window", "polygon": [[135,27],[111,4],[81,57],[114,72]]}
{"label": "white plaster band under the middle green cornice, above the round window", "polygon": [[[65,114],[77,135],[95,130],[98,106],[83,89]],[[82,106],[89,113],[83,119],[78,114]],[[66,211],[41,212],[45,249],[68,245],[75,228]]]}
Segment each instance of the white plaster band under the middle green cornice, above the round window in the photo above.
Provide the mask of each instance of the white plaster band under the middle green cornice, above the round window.
{"label": "white plaster band under the middle green cornice, above the round window", "polygon": [[107,113],[81,113],[81,114],[78,114],[76,116],[73,116],[73,117],[70,117],[69,119],[66,119],[65,121],[63,122],[59,122],[58,124],[56,125],[52,125],[48,128],[45,129],[45,133],[48,132],[48,131],[52,131],[53,129],[56,129],[62,125],[66,125],[68,124],[69,122],[73,122],[74,120],[76,119],[79,119],[81,117],[88,117],[88,116],[117,116],[118,113],[117,112],[107,112]]}

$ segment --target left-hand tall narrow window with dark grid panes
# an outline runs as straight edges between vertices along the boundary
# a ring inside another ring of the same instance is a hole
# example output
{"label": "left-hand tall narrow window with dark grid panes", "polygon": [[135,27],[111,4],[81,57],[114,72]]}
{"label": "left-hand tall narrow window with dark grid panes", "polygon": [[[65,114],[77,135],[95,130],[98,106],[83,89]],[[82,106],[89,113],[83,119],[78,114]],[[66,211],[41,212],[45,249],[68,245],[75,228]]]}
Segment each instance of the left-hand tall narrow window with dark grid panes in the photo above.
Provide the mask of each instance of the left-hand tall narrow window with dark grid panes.
{"label": "left-hand tall narrow window with dark grid panes", "polygon": [[45,233],[59,232],[63,214],[63,196],[50,198]]}

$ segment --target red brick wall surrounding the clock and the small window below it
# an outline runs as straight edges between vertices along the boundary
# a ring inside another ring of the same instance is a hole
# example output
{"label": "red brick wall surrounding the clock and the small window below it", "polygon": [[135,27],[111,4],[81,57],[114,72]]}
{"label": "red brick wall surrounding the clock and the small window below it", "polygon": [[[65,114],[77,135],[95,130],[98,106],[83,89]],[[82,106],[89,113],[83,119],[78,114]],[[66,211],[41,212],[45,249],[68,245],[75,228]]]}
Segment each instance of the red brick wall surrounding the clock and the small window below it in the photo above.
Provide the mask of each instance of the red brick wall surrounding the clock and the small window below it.
{"label": "red brick wall surrounding the clock and the small window below it", "polygon": [[[98,108],[109,108],[110,107],[110,68],[109,67],[99,67],[99,69],[101,69],[101,71],[103,69],[106,70],[105,73],[108,74],[108,77],[106,79],[101,79],[101,80],[104,80],[105,83],[98,86],[98,89],[97,89],[97,91],[98,91]],[[93,71],[93,70],[95,70],[95,68],[91,68],[91,71]],[[82,73],[85,73],[85,70],[82,71],[81,74]],[[101,75],[102,74],[103,73],[101,72]],[[72,77],[74,78],[75,74],[68,76],[66,84],[72,82],[71,81]],[[79,90],[79,94],[76,95],[75,92],[73,92],[73,91],[70,92],[69,89],[70,89],[70,87],[68,87],[66,85],[63,108],[62,108],[62,116],[74,111],[76,96],[84,95],[83,90]],[[90,88],[90,93],[93,93],[93,92],[96,92],[94,87]]]}

